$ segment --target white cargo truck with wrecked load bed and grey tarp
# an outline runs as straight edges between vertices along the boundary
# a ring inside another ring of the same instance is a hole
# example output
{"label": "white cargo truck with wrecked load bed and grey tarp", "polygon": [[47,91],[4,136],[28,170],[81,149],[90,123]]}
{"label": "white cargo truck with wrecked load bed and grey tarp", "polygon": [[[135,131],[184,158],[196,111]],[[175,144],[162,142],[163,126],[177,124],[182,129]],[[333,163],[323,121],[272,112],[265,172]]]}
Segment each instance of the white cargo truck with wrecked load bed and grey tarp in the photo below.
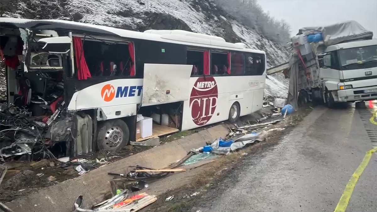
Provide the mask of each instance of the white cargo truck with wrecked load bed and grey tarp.
{"label": "white cargo truck with wrecked load bed and grey tarp", "polygon": [[289,63],[267,70],[290,78],[287,102],[300,106],[322,101],[377,99],[377,40],[356,21],[299,30],[291,39]]}

